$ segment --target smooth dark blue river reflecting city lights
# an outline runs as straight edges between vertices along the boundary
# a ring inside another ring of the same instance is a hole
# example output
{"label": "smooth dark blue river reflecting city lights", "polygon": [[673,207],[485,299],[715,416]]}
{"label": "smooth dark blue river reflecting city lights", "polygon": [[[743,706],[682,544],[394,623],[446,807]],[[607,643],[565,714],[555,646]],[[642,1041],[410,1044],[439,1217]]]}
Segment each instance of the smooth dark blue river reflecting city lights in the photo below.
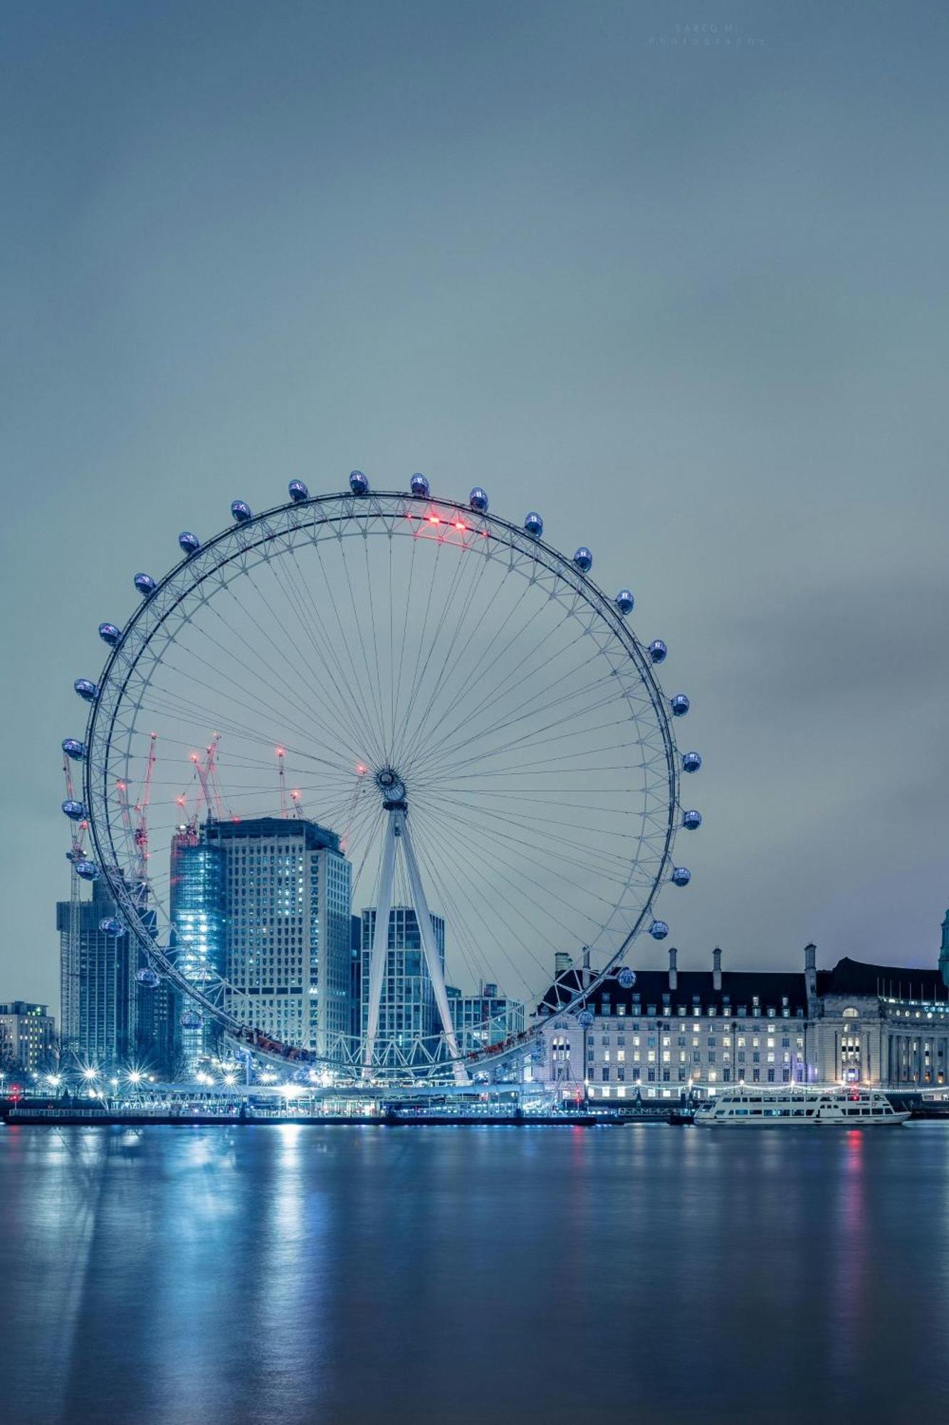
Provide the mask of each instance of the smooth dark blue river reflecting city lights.
{"label": "smooth dark blue river reflecting city lights", "polygon": [[0,1129],[19,1425],[942,1421],[949,1126]]}

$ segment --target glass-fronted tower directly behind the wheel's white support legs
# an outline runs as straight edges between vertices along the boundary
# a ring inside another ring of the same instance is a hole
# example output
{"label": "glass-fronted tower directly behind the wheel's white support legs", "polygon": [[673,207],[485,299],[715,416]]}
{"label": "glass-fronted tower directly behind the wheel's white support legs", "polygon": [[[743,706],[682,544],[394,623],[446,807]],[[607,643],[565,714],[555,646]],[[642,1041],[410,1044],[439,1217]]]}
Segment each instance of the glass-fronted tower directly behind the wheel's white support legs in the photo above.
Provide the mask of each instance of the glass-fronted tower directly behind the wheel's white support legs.
{"label": "glass-fronted tower directly behind the wheel's white support legs", "polygon": [[[432,915],[432,929],[437,945],[442,973],[445,973],[445,921]],[[369,1023],[369,962],[372,940],[376,933],[376,911],[369,906],[362,912],[362,1015],[361,1033]],[[410,905],[393,905],[389,911],[389,946],[386,973],[382,982],[379,1002],[379,1037],[399,1046],[410,1046],[419,1039],[429,1040],[432,1052],[435,1040],[442,1033],[442,1019],[435,1002],[435,988],[425,963],[422,932]]]}

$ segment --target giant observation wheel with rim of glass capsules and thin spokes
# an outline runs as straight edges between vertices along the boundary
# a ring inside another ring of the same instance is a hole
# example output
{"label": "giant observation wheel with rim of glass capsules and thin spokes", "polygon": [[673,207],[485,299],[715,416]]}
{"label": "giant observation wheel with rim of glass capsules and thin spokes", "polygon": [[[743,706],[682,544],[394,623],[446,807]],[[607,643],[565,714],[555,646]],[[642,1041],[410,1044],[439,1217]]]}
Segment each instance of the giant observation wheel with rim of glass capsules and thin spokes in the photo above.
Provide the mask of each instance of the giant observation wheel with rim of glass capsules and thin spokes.
{"label": "giant observation wheel with rim of glass capsules and thin spokes", "polygon": [[[373,492],[356,470],[323,496],[294,480],[288,503],[254,514],[235,500],[231,513],[204,543],[182,533],[162,579],[135,574],[140,606],[124,627],[100,626],[98,681],[76,683],[84,742],[63,744],[84,788],[63,809],[91,838],[88,854],[74,838],[73,868],[105,879],[118,916],[103,928],[134,936],[140,980],[170,980],[182,1023],[362,1082],[467,1082],[530,1052],[556,976],[566,1013],[606,976],[628,985],[636,936],[668,933],[657,893],[690,881],[673,864],[675,832],[701,824],[680,801],[701,757],[673,735],[688,698],[661,691],[667,648],[633,633],[630,590],[607,596],[590,550],[559,553],[536,512],[514,524],[489,513],[483,489],[443,499],[422,475],[409,492]],[[261,825],[269,869],[244,859],[239,885],[269,875],[271,899],[235,909],[232,895],[224,939],[256,915],[235,973],[227,950],[182,933],[172,862],[182,845]],[[355,989],[326,978],[312,908],[302,926],[291,852],[304,828],[346,868]],[[396,983],[399,925],[413,988]],[[308,935],[318,1007],[275,1019],[281,989],[294,990],[275,979],[301,978],[281,955]],[[587,973],[564,976],[570,965]],[[395,1015],[419,985],[427,1010]],[[484,986],[520,1016],[459,1015]]]}

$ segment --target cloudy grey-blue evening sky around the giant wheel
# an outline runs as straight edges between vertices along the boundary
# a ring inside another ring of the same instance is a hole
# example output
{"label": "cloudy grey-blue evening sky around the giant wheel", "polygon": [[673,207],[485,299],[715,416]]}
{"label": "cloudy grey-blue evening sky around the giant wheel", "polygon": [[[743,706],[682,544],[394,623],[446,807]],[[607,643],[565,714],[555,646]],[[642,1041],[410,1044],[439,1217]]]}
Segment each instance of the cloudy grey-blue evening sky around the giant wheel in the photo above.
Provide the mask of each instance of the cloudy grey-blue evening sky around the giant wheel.
{"label": "cloudy grey-blue evening sky around the giant wheel", "polygon": [[935,963],[948,64],[940,0],[6,4],[0,999],[58,1002],[97,624],[355,466],[636,591],[680,966]]}

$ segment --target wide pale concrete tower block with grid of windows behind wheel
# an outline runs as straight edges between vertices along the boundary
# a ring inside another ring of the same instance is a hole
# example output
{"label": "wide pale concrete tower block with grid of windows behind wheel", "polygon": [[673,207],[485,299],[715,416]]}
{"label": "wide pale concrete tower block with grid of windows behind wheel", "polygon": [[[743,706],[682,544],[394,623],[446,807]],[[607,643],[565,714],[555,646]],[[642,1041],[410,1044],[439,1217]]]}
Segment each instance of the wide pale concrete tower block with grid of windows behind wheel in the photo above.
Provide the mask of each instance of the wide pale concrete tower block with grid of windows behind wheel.
{"label": "wide pale concrete tower block with grid of windows behind wheel", "polygon": [[274,1039],[339,1053],[351,1033],[352,876],[339,836],[282,817],[211,819],[199,835],[222,856],[225,1007]]}

